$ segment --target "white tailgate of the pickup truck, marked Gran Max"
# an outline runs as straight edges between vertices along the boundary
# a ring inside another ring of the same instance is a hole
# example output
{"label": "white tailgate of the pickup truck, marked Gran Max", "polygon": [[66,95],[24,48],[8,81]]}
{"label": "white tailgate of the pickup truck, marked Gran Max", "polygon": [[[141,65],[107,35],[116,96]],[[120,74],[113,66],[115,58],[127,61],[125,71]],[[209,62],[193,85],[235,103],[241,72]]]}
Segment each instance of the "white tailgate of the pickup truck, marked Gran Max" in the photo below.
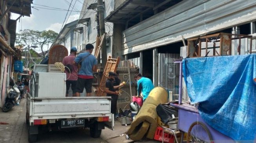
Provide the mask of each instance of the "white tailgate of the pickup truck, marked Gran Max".
{"label": "white tailgate of the pickup truck, marked Gran Max", "polygon": [[43,116],[47,119],[97,117],[111,113],[111,97],[35,97],[31,101],[30,116]]}

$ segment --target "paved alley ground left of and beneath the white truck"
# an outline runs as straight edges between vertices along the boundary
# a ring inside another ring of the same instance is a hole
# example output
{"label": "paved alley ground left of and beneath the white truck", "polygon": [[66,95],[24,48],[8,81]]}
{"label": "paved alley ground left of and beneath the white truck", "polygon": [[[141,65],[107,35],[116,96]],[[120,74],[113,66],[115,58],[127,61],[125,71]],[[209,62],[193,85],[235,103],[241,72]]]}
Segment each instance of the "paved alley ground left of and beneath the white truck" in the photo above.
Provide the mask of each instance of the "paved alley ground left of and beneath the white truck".
{"label": "paved alley ground left of and beneath the white truck", "polygon": [[[0,111],[0,143],[28,143],[27,124],[25,123],[26,98],[11,111]],[[107,143],[101,138],[91,138],[89,129],[70,131],[42,132],[38,135],[38,143]]]}

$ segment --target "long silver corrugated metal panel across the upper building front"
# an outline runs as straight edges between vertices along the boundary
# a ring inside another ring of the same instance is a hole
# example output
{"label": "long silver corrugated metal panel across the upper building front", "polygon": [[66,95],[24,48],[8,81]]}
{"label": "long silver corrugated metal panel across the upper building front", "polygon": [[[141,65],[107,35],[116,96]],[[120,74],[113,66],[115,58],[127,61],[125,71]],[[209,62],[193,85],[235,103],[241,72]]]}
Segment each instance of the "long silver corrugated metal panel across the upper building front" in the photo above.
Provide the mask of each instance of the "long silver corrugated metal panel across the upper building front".
{"label": "long silver corrugated metal panel across the upper building front", "polygon": [[256,0],[183,0],[123,32],[123,54],[256,20]]}

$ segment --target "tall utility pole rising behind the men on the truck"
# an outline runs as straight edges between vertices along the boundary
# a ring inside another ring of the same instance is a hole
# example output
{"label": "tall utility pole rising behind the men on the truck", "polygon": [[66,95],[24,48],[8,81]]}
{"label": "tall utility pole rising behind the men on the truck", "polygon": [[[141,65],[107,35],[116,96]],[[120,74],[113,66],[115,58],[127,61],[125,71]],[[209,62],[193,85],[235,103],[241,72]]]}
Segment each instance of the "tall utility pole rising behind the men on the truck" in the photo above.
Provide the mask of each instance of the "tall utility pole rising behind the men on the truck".
{"label": "tall utility pole rising behind the men on the truck", "polygon": [[[103,36],[103,34],[105,33],[105,21],[104,21],[104,6],[103,6],[102,0],[98,0],[98,13],[99,13],[99,21],[100,21],[100,36]],[[102,55],[102,66],[104,69],[107,63],[107,47],[106,47],[105,39],[103,39],[101,55]]]}

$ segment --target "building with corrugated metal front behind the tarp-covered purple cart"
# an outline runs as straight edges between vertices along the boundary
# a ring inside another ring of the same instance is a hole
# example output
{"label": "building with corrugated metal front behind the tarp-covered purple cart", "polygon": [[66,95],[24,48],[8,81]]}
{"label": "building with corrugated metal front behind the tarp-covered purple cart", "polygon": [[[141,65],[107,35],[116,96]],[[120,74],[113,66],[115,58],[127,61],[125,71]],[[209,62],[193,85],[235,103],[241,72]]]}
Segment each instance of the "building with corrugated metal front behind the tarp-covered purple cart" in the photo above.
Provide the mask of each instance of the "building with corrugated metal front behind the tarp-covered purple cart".
{"label": "building with corrugated metal front behind the tarp-covered purple cart", "polygon": [[[114,49],[140,61],[140,72],[155,86],[177,91],[173,60],[181,55],[182,36],[186,43],[217,32],[256,36],[256,1],[124,0],[105,20],[114,23]],[[253,40],[254,51],[255,45]]]}

